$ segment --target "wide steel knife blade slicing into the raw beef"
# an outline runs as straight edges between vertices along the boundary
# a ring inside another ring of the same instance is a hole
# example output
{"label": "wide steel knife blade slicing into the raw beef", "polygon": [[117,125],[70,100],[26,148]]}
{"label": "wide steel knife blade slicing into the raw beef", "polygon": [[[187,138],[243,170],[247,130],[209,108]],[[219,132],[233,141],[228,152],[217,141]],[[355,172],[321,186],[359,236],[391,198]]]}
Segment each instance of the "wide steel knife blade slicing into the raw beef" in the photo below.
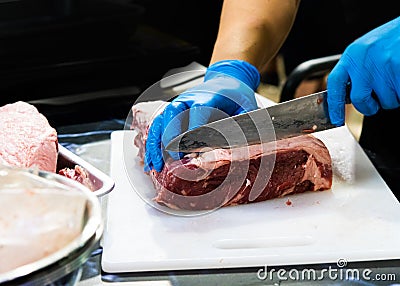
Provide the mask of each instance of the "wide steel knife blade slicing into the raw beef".
{"label": "wide steel knife blade slicing into the raw beef", "polygon": [[299,97],[208,123],[175,137],[165,147],[174,152],[202,152],[266,143],[336,127],[331,124],[327,91]]}

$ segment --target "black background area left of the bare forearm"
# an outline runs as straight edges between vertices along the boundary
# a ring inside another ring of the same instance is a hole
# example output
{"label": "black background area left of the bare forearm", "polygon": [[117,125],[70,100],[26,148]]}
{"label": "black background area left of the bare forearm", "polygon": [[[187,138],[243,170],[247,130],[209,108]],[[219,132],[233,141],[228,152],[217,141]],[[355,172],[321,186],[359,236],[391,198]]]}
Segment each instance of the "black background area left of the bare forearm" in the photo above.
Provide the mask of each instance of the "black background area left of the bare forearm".
{"label": "black background area left of the bare forearm", "polygon": [[[56,125],[121,116],[118,102],[132,104],[168,70],[208,65],[221,3],[0,0],[0,105],[134,87],[90,105],[37,104]],[[83,105],[96,108],[73,112]]]}

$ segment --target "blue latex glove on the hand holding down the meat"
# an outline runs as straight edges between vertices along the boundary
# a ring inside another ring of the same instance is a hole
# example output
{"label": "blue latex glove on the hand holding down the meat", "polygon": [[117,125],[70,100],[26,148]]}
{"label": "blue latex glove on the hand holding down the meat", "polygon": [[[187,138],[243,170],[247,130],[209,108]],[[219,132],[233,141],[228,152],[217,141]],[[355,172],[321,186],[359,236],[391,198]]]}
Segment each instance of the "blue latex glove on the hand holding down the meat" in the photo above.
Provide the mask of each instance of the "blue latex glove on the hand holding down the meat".
{"label": "blue latex glove on the hand holding down the meat", "polygon": [[[202,84],[181,93],[154,119],[146,141],[144,170],[160,172],[163,146],[182,132],[256,109],[254,91],[259,83],[258,70],[245,61],[225,60],[209,66]],[[170,155],[179,158],[176,153]]]}

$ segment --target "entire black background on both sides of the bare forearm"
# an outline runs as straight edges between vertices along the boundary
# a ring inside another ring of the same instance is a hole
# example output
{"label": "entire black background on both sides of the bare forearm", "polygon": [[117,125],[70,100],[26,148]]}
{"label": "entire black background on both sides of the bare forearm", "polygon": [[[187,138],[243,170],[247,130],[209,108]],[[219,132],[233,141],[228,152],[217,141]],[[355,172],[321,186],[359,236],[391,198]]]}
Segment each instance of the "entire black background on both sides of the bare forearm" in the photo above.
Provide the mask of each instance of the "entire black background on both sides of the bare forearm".
{"label": "entire black background on both sides of the bare forearm", "polygon": [[[0,0],[0,105],[78,95],[74,103],[35,105],[54,126],[123,118],[170,69],[208,65],[222,2]],[[397,2],[303,0],[280,51],[286,73],[341,53],[400,15]]]}

